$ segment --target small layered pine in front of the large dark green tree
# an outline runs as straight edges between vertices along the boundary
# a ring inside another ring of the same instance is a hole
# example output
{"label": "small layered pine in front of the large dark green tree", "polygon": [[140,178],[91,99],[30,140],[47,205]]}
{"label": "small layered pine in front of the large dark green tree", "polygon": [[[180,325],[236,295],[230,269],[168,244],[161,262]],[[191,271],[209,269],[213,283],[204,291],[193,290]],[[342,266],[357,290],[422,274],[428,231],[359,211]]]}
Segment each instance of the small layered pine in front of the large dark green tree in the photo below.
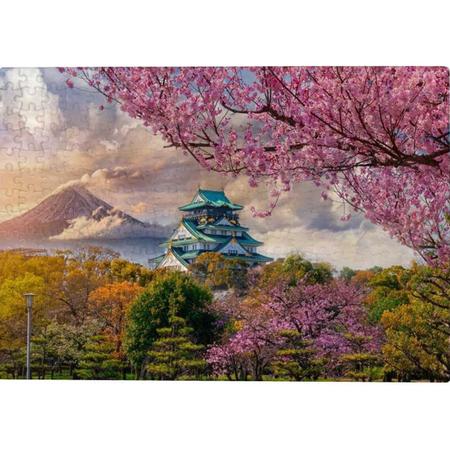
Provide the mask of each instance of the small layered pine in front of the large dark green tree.
{"label": "small layered pine in front of the large dark green tree", "polygon": [[152,344],[147,373],[153,379],[198,380],[206,368],[200,357],[202,345],[192,341],[193,329],[181,317],[171,317],[169,326],[157,330],[158,339]]}

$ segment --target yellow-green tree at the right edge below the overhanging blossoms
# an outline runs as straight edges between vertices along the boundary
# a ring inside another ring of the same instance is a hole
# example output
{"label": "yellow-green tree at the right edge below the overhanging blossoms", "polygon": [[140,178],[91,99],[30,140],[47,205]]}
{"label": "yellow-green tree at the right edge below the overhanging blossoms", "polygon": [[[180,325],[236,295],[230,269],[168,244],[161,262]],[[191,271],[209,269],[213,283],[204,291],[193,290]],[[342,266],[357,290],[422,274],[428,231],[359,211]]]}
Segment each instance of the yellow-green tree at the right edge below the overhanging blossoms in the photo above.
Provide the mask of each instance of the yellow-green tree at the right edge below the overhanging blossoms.
{"label": "yellow-green tree at the right edge below the overhanging blossoms", "polygon": [[450,269],[414,266],[408,303],[385,311],[383,356],[401,380],[450,379]]}

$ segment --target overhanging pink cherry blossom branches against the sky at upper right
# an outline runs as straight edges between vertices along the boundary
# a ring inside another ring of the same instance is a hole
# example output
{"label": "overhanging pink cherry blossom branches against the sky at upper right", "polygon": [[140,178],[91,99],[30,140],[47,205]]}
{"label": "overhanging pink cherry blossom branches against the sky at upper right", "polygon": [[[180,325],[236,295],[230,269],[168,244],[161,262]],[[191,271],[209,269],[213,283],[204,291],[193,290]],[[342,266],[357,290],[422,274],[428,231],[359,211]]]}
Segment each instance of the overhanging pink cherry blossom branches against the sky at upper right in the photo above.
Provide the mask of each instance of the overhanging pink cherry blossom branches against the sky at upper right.
{"label": "overhanging pink cherry blossom branches against the sky at upper right", "polygon": [[[61,69],[209,170],[333,191],[427,259],[450,256],[449,75],[441,67]],[[348,217],[345,211],[343,217]]]}

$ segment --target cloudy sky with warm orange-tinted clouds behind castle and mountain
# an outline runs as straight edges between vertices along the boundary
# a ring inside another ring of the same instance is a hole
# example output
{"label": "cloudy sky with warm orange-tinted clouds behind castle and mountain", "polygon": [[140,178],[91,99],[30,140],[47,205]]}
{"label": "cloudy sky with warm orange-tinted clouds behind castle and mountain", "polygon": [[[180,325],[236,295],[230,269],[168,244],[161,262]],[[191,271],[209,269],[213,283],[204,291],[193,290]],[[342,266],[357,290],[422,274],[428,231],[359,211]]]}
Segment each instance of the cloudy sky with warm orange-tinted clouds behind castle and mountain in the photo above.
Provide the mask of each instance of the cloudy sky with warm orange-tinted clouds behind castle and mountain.
{"label": "cloudy sky with warm orange-tinted clouds behind castle and mountain", "polygon": [[[100,106],[104,106],[101,110]],[[56,69],[0,70],[0,221],[19,215],[65,185],[81,184],[143,221],[175,226],[178,206],[198,187],[224,189],[245,206],[241,223],[272,257],[302,253],[336,268],[408,265],[414,253],[361,214],[321,198],[313,184],[283,194],[268,218],[264,184],[208,172],[180,150],[164,148],[138,120],[81,81],[73,89]]]}

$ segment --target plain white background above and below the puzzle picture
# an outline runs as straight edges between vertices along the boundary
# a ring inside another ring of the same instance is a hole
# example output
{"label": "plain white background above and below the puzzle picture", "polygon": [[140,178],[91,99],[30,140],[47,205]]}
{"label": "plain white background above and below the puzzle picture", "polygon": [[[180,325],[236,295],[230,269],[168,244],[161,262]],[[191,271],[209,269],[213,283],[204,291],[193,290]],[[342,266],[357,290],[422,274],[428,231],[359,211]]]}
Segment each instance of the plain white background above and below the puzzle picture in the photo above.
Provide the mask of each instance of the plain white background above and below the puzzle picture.
{"label": "plain white background above and below the puzzle picture", "polygon": [[[450,59],[445,1],[5,3],[4,67]],[[450,384],[0,380],[0,449],[436,450],[449,400]]]}

